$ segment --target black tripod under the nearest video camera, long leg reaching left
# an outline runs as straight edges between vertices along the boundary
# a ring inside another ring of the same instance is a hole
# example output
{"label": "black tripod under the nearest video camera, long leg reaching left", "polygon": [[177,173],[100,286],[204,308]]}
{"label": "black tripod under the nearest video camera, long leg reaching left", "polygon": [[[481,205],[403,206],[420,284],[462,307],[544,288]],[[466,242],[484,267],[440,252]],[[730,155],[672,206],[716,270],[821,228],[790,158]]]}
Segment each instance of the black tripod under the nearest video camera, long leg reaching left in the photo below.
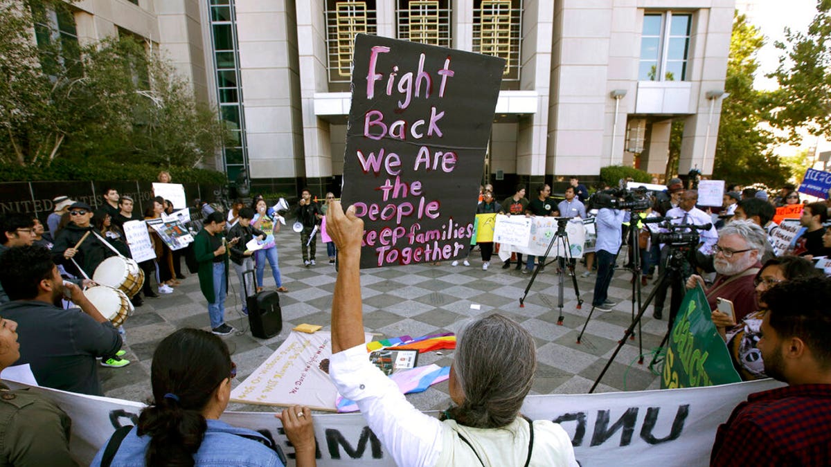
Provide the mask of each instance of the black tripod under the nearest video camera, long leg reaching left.
{"label": "black tripod under the nearest video camera, long leg reaching left", "polygon": [[[690,269],[690,263],[689,261],[687,261],[686,255],[693,251],[696,247],[689,244],[671,244],[669,247],[665,248],[669,248],[669,254],[666,258],[666,268],[664,268],[664,271],[658,278],[658,285],[656,286],[656,288],[652,289],[652,292],[649,293],[647,300],[643,302],[643,304],[640,306],[640,309],[637,312],[637,316],[632,319],[632,324],[630,324],[629,327],[627,327],[627,330],[623,332],[623,338],[617,342],[617,348],[615,348],[615,351],[612,353],[612,356],[609,357],[609,360],[606,362],[606,366],[603,366],[603,370],[600,371],[600,375],[597,376],[597,380],[594,381],[592,388],[588,390],[589,393],[594,392],[594,390],[597,388],[597,385],[600,384],[600,380],[602,380],[603,376],[606,375],[606,371],[608,371],[609,366],[612,365],[612,361],[615,360],[615,357],[621,351],[623,345],[626,344],[627,337],[630,337],[632,335],[635,326],[640,326],[643,313],[647,312],[649,304],[655,298],[658,290],[661,288],[661,285],[666,283],[672,289],[672,298],[670,302],[670,316],[668,317],[668,329],[666,330],[666,334],[664,335],[664,338],[661,340],[661,345],[659,346],[664,347],[666,339],[669,337],[669,334],[672,330],[672,324],[673,322],[675,322],[675,317],[678,313],[678,309],[681,307],[681,300],[683,298],[684,291],[684,278],[687,275],[689,275],[688,273]],[[638,281],[636,280],[635,282]],[[641,357],[641,361],[643,361],[643,357]],[[649,366],[652,367],[653,365],[655,365],[656,361],[657,357],[652,358],[652,362],[650,362]]]}

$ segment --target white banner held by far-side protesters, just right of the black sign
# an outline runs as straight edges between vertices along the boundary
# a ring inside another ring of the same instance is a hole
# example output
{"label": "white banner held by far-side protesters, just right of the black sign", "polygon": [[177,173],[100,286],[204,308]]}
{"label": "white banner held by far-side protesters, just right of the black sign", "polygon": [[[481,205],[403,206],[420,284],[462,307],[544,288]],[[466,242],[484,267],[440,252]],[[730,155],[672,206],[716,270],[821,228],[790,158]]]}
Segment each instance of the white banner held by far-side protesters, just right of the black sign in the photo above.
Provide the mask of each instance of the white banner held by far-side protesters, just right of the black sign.
{"label": "white banner held by far-side protesters, just right of the black sign", "polygon": [[[510,217],[514,218],[516,216]],[[557,218],[536,216],[526,219],[531,220],[527,246],[523,247],[510,244],[501,246],[499,248],[499,258],[503,261],[510,258],[510,254],[513,252],[543,256],[546,250],[548,250],[548,245],[551,244],[551,239],[557,234]],[[499,226],[499,217],[496,219],[496,225],[497,227]],[[566,224],[566,234],[568,234],[568,249],[570,250],[571,257],[576,259],[583,258],[583,251],[586,244],[586,228],[583,226],[583,219],[576,218],[568,221]],[[564,256],[563,244],[560,243],[559,239],[554,242],[551,251],[548,252],[548,258]]]}

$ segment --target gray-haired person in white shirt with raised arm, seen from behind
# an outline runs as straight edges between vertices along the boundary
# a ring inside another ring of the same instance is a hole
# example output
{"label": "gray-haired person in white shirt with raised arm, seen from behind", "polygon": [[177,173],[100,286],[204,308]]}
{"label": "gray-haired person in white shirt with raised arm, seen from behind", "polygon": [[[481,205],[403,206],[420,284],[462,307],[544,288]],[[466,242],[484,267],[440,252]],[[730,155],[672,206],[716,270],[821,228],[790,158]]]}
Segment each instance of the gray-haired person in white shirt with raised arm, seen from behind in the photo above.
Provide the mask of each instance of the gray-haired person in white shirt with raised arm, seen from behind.
{"label": "gray-haired person in white shirt with raised arm, seen from behind", "polygon": [[455,405],[443,420],[407,402],[366,353],[359,269],[363,221],[354,206],[344,213],[334,201],[326,225],[340,262],[329,374],[342,396],[356,401],[396,465],[578,465],[563,427],[519,414],[537,357],[529,332],[507,317],[490,315],[462,332],[450,367]]}

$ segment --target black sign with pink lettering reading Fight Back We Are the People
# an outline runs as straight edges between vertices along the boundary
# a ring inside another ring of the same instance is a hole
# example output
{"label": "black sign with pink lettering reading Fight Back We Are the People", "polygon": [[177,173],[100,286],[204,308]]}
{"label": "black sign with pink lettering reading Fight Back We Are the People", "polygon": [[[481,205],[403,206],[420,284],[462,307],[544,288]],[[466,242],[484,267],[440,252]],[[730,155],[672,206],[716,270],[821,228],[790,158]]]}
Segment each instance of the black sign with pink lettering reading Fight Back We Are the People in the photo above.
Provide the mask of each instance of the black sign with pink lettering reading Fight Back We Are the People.
{"label": "black sign with pink lettering reading Fight Back We Are the People", "polygon": [[504,60],[359,34],[344,206],[361,268],[443,261],[470,246]]}

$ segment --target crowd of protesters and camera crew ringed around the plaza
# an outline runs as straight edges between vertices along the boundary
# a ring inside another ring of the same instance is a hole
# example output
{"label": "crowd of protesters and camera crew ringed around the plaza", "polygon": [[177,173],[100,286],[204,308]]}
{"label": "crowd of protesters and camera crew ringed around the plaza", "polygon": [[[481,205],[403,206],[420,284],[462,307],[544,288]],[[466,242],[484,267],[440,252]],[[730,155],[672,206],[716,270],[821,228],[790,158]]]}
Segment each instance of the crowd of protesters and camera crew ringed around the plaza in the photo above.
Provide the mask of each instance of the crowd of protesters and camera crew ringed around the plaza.
{"label": "crowd of protesters and camera crew ringed around the plaza", "polygon": [[[160,174],[169,183],[170,175]],[[720,207],[701,206],[698,193],[681,179],[648,194],[650,205],[636,215],[627,209],[588,204],[589,191],[577,177],[569,179],[562,200],[551,186],[534,187],[525,198],[519,184],[502,203],[493,187],[481,189],[477,214],[594,218],[596,239],[585,255],[583,277],[597,269],[592,305],[612,310],[607,290],[618,268],[618,254],[629,250],[627,266],[637,256],[643,285],[657,278],[653,317],[664,318],[671,293],[671,327],[686,288],[701,287],[715,324],[742,379],[773,377],[789,386],[751,395],[737,406],[715,435],[713,465],[758,461],[764,465],[825,465],[831,448],[831,279],[814,263],[831,253],[826,202],[805,203],[799,224],[804,234],[788,251],[774,252],[775,209],[800,204],[794,187],[775,196],[753,188],[730,186]],[[101,207],[66,196],[54,199],[47,229],[25,214],[0,216],[0,369],[29,364],[39,384],[64,391],[102,396],[98,366],[121,367],[125,335],[84,294],[94,286],[96,268],[114,255],[130,258],[123,226],[142,219],[134,199],[116,189],[103,190]],[[145,273],[141,292],[130,301],[169,294],[184,279],[181,260],[192,254],[200,289],[208,303],[210,332],[180,329],[155,350],[151,369],[153,400],[135,427],[116,432],[93,465],[283,465],[278,446],[256,432],[222,421],[236,366],[217,336],[235,330],[225,322],[224,302],[229,266],[240,283],[240,299],[265,287],[271,267],[274,287],[283,286],[278,265],[278,234],[284,219],[261,197],[246,206],[236,200],[227,214],[199,204],[202,219],[194,243],[172,250],[149,229],[156,258],[139,263]],[[176,207],[160,197],[151,200],[144,219],[172,214]],[[360,253],[362,221],[346,212],[332,193],[325,201],[303,189],[294,214],[299,222],[302,266],[316,265],[316,238],[326,219],[329,263],[339,263],[332,303],[330,375],[343,396],[356,401],[371,429],[399,465],[577,465],[568,435],[549,420],[525,419],[519,409],[536,369],[534,339],[519,324],[498,314],[472,322],[461,332],[450,371],[450,409],[435,419],[411,406],[391,380],[366,359],[361,312]],[[684,270],[668,271],[671,246],[661,244],[661,216],[681,226],[704,226]],[[711,221],[717,216],[718,222]],[[717,228],[716,228],[717,225]],[[633,241],[627,235],[639,229]],[[257,240],[258,248],[249,243]],[[627,245],[627,243],[629,243]],[[281,245],[282,246],[282,245]],[[284,246],[282,246],[285,248]],[[479,243],[482,269],[488,270],[493,242]],[[177,251],[179,253],[177,253]],[[464,263],[469,265],[465,252]],[[462,259],[462,258],[460,258]],[[518,273],[543,272],[546,258],[514,254]],[[186,261],[187,263],[187,261]],[[596,263],[596,264],[595,264]],[[454,265],[459,264],[458,261]],[[249,271],[255,273],[248,274]],[[509,272],[510,273],[510,272]],[[672,277],[676,274],[678,277]],[[250,280],[253,278],[253,282]],[[155,282],[155,287],[151,283]],[[156,293],[158,291],[159,293]],[[142,297],[143,296],[143,297]],[[733,313],[719,311],[729,300]],[[246,310],[243,307],[243,312]],[[498,343],[498,344],[494,344]],[[0,383],[0,462],[7,465],[74,465],[69,455],[71,420],[52,402],[12,391]],[[810,415],[811,423],[802,422]],[[316,446],[310,410],[294,406],[278,417],[293,443],[297,465],[314,465]],[[6,421],[3,421],[6,420]],[[27,435],[34,431],[38,436]],[[46,436],[46,439],[44,439]]]}

